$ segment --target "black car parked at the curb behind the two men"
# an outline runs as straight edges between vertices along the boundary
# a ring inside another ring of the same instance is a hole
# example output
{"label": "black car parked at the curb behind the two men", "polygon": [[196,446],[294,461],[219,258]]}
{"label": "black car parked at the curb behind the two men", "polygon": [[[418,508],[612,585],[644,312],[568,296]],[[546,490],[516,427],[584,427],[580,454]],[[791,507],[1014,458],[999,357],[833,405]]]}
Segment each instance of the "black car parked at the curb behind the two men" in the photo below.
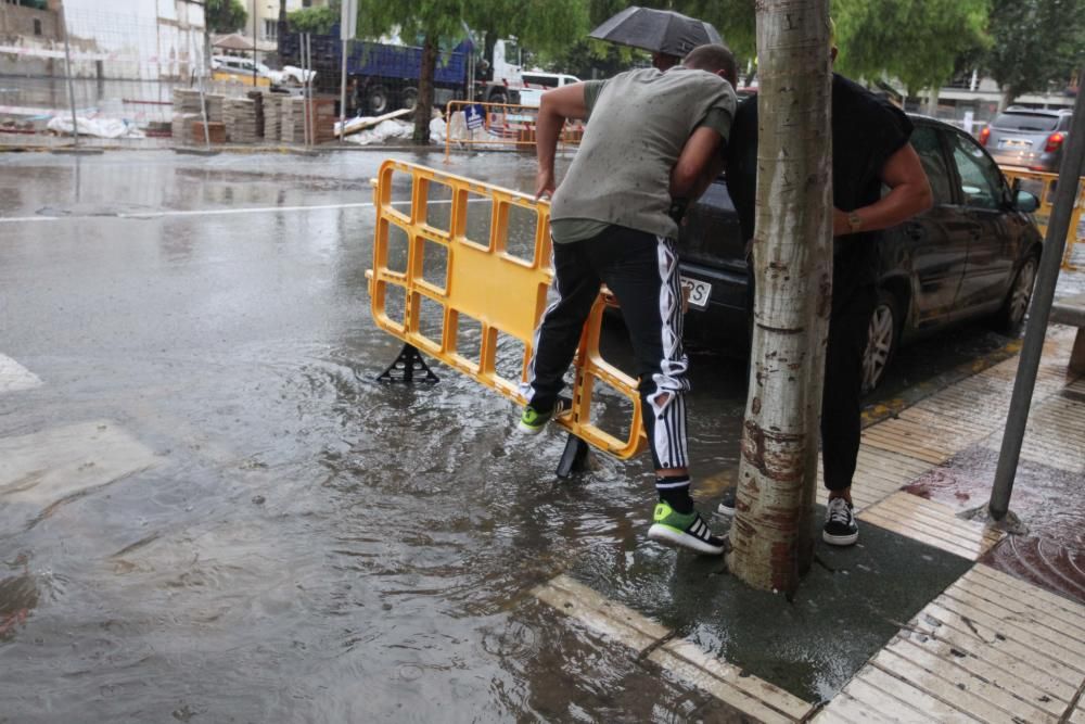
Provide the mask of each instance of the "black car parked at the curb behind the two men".
{"label": "black car parked at the curb behind the two men", "polygon": [[[971,136],[910,116],[911,144],[934,205],[886,229],[879,244],[879,303],[870,318],[864,388],[877,386],[901,342],[946,323],[994,317],[1018,328],[1032,299],[1042,242],[1031,212],[1038,201],[1010,188]],[[738,214],[723,178],[690,207],[679,239],[689,295],[687,336],[744,352],[749,267]]]}

